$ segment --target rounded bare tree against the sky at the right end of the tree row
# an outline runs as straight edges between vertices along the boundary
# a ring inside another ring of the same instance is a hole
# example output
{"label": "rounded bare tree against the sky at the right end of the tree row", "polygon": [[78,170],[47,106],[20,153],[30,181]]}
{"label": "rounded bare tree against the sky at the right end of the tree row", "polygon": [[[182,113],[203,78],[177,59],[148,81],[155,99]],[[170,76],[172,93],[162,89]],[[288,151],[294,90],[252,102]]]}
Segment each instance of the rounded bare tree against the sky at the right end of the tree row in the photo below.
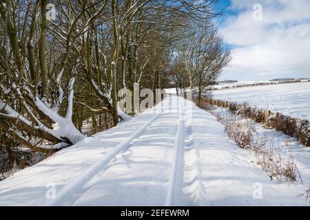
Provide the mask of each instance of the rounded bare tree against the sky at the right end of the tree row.
{"label": "rounded bare tree against the sky at the right end of the tree row", "polygon": [[183,62],[183,71],[187,73],[189,88],[196,92],[200,101],[229,64],[230,50],[209,20],[199,25],[191,22],[189,26],[192,32],[181,42],[178,57]]}

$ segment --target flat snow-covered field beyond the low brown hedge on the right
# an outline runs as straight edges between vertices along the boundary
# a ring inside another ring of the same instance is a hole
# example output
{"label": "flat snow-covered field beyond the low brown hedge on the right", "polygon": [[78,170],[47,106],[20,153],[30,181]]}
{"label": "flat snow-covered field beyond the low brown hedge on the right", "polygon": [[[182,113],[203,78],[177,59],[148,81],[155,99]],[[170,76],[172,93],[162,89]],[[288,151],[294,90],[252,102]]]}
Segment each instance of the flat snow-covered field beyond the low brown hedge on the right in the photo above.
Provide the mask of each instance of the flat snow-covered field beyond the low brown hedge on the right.
{"label": "flat snow-covered field beyond the low brown hedge on the right", "polygon": [[310,120],[310,83],[287,83],[214,91],[214,98]]}

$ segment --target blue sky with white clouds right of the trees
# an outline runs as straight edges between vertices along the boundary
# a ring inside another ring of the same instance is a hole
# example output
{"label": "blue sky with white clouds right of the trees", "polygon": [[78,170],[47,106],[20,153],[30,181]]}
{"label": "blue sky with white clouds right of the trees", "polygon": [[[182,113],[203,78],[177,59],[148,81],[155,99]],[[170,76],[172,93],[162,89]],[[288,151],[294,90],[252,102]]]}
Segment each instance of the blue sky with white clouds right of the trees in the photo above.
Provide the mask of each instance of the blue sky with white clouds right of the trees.
{"label": "blue sky with white clouds right of the trees", "polygon": [[220,0],[232,48],[221,79],[310,78],[310,0]]}

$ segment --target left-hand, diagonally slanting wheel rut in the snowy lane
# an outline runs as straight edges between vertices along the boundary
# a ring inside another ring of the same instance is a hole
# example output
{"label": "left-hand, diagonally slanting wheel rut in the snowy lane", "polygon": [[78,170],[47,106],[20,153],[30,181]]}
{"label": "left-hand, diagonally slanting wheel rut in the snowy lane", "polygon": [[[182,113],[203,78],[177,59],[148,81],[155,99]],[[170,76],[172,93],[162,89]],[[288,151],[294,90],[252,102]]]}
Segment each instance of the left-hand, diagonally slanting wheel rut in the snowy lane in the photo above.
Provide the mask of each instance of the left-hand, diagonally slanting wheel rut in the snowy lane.
{"label": "left-hand, diagonally slanting wheel rut in the snowy lane", "polygon": [[87,170],[85,170],[79,177],[77,177],[69,184],[61,188],[59,192],[56,192],[56,198],[48,200],[43,204],[43,206],[61,206],[61,204],[65,201],[65,199],[68,199],[68,197],[70,197],[72,194],[81,189],[88,181],[90,181],[90,179],[92,179],[92,177],[94,177],[94,175],[96,175],[96,173],[98,173],[101,169],[103,169],[116,155],[126,150],[130,146],[130,142],[141,136],[144,133],[147,126],[152,124],[162,113],[163,111],[154,115],[147,123],[141,126],[140,129],[136,130],[134,133],[132,133],[132,135],[127,137],[126,140],[117,144],[112,151],[110,151],[109,153],[107,153],[107,155],[105,155],[105,157],[99,159],[99,161],[90,166],[90,168],[87,168]]}

